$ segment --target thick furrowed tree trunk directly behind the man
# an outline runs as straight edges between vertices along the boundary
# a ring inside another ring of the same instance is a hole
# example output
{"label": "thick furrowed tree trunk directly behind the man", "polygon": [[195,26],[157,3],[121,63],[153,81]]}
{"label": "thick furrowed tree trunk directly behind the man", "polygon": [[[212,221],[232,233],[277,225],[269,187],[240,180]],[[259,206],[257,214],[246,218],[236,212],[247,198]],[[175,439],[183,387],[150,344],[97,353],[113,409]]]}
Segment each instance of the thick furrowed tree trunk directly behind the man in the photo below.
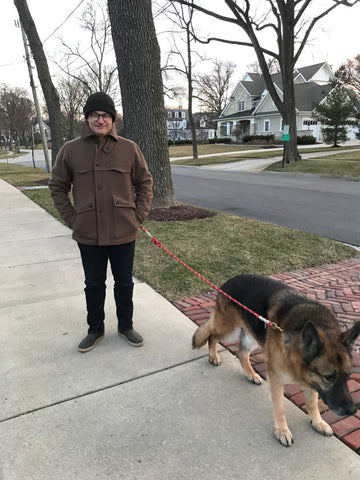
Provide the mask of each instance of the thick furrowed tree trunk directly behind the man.
{"label": "thick furrowed tree trunk directly behind the man", "polygon": [[175,205],[166,115],[151,0],[108,0],[127,138],[135,141],[154,179],[153,208]]}

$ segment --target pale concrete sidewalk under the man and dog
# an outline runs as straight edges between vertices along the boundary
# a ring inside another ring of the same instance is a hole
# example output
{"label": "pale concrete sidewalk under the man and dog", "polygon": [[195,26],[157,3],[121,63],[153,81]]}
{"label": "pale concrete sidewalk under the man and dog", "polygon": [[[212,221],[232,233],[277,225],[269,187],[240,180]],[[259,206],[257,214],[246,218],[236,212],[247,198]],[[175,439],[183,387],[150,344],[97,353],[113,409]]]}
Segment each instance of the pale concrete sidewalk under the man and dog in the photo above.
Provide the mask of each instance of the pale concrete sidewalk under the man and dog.
{"label": "pale concrete sidewalk under the man and dog", "polygon": [[[83,274],[68,228],[0,180],[0,479],[357,479],[360,459],[312,430],[286,401],[295,444],[272,433],[268,386],[237,359],[191,349],[194,324],[135,286],[142,348],[116,333],[108,280],[106,336],[91,352]],[[152,248],[149,243],[149,248]]]}

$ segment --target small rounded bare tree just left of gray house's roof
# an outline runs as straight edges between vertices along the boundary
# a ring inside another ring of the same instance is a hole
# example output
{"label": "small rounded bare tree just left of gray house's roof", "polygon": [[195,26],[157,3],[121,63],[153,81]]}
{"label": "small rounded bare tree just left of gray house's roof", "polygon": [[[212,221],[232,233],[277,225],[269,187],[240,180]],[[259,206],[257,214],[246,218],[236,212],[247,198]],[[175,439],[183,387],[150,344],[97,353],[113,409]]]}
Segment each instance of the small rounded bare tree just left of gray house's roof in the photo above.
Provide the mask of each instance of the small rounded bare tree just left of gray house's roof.
{"label": "small rounded bare tree just left of gray house's roof", "polygon": [[210,74],[195,75],[196,98],[201,108],[219,116],[228,102],[229,88],[235,64],[214,60]]}

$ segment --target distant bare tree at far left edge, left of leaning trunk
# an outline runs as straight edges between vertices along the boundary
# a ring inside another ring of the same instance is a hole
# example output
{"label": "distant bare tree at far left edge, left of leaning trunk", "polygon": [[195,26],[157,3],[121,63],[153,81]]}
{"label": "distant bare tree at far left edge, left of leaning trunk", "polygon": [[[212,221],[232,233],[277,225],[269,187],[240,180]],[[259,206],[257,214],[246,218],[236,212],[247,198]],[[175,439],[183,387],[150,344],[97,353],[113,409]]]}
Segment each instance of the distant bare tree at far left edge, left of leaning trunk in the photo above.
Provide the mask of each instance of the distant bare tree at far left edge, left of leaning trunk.
{"label": "distant bare tree at far left edge, left of leaning trunk", "polygon": [[35,116],[35,107],[26,90],[2,85],[0,112],[2,127],[10,134],[10,150],[12,150],[13,142],[17,148],[19,148],[20,142],[27,143],[31,132],[31,122]]}

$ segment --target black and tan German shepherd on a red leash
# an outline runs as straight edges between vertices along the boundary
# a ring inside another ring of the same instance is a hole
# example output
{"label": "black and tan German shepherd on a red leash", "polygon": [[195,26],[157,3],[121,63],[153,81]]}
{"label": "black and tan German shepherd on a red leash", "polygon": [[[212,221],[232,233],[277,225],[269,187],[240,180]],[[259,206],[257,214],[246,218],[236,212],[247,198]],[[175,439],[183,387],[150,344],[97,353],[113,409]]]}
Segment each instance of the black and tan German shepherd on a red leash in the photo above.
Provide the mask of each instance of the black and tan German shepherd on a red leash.
{"label": "black and tan German shepherd on a red leash", "polygon": [[285,418],[284,385],[298,383],[304,388],[305,405],[315,430],[332,435],[321,418],[318,395],[338,415],[351,415],[356,407],[347,379],[351,352],[360,334],[360,321],[341,333],[332,312],[318,302],[300,295],[281,282],[260,275],[238,275],[221,289],[280,328],[266,328],[255,315],[219,293],[209,320],[193,336],[193,348],[209,344],[209,362],[220,364],[218,340],[239,332],[236,353],[250,382],[261,384],[249,356],[253,340],[263,349],[270,387],[275,436],[289,447],[293,436]]}

